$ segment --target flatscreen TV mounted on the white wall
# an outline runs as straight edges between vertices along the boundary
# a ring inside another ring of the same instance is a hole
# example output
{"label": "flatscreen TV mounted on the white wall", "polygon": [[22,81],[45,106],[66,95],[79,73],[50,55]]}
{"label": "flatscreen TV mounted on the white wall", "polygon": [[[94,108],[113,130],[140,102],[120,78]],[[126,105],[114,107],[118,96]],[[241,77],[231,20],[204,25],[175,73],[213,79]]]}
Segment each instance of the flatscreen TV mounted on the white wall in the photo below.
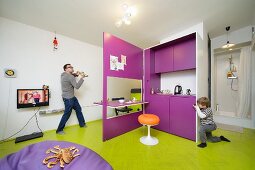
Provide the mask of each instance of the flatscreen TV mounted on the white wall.
{"label": "flatscreen TV mounted on the white wall", "polygon": [[49,106],[49,89],[17,89],[17,108]]}

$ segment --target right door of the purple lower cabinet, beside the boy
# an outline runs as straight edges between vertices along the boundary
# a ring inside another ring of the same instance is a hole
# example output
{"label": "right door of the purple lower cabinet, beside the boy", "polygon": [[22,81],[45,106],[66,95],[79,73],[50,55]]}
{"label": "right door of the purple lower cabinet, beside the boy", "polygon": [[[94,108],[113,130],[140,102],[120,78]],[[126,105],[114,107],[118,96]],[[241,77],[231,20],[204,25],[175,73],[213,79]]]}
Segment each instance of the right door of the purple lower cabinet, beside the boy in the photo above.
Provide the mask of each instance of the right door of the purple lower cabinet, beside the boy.
{"label": "right door of the purple lower cabinet, beside the boy", "polygon": [[195,96],[170,97],[170,133],[193,141],[196,140]]}

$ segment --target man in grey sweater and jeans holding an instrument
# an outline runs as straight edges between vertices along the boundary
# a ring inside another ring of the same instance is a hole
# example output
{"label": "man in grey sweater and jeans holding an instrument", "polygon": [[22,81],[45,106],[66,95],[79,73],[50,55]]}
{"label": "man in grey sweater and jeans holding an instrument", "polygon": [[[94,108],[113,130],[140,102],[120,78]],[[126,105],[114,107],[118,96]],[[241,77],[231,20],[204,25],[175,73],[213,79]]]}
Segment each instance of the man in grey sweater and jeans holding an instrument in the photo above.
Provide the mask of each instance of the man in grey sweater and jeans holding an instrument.
{"label": "man in grey sweater and jeans holding an instrument", "polygon": [[62,87],[62,97],[65,104],[65,111],[64,114],[60,120],[60,123],[58,125],[58,129],[56,131],[57,134],[64,134],[64,127],[66,122],[68,121],[72,109],[75,110],[76,116],[79,121],[80,127],[86,126],[81,106],[77,100],[77,98],[74,96],[74,88],[79,89],[84,82],[83,78],[84,75],[78,76],[78,82],[76,82],[76,78],[73,75],[73,67],[71,64],[65,64],[64,65],[64,72],[61,74],[61,87]]}

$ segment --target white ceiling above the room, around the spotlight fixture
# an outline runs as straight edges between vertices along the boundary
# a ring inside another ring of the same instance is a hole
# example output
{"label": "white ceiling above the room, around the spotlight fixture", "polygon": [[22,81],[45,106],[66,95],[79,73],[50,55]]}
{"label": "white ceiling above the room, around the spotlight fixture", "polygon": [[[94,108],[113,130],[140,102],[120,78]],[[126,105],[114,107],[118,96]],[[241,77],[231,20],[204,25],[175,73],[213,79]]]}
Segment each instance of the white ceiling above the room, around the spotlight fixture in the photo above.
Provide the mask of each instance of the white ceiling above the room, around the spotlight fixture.
{"label": "white ceiling above the room, around the spotlight fixture", "polygon": [[[123,3],[138,12],[117,28]],[[0,0],[0,16],[97,46],[109,32],[146,48],[200,22],[211,38],[254,25],[255,0]]]}

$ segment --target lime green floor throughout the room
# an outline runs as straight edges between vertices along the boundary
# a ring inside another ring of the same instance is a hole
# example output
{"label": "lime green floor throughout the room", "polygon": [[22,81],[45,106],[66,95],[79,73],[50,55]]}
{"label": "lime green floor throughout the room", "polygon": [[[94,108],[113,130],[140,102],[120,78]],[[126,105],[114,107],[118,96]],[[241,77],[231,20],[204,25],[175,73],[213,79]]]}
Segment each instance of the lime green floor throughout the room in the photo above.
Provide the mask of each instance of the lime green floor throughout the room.
{"label": "lime green floor throughout the room", "polygon": [[255,130],[244,133],[217,129],[213,134],[224,135],[228,142],[208,143],[198,148],[195,142],[152,129],[159,139],[156,146],[139,142],[146,127],[135,129],[114,139],[102,142],[102,121],[87,123],[86,128],[70,126],[65,135],[47,131],[43,138],[21,143],[14,140],[0,144],[0,158],[23,147],[45,140],[69,141],[84,145],[107,160],[114,170],[253,170],[255,169]]}

